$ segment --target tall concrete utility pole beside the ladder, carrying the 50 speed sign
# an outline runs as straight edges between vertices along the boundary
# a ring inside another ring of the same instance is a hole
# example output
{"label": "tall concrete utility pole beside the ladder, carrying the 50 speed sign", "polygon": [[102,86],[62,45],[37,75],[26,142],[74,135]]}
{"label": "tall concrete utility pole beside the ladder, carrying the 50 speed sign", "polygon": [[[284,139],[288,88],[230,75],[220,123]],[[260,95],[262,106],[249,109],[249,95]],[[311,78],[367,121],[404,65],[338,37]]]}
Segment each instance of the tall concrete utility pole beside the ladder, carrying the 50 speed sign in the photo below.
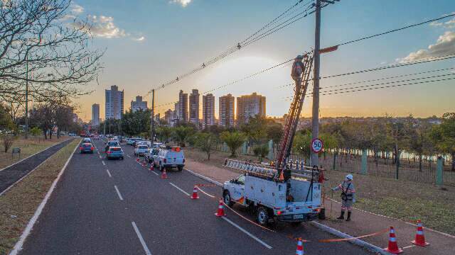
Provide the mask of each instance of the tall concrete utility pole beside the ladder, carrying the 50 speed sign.
{"label": "tall concrete utility pole beside the ladder, carrying the 50 speed sign", "polygon": [[[316,28],[314,30],[314,83],[313,83],[313,118],[311,120],[311,139],[319,137],[319,47],[321,40],[321,0],[316,0]],[[311,145],[310,145],[311,146]],[[319,166],[317,153],[311,151],[311,166]]]}

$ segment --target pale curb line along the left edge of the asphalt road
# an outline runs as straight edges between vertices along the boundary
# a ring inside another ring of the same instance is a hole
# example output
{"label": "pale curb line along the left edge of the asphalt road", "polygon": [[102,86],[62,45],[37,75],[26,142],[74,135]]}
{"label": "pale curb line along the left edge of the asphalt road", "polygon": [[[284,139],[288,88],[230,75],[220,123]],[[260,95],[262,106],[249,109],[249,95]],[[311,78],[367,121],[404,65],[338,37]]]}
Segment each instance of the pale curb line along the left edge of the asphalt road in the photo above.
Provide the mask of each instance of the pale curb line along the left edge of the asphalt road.
{"label": "pale curb line along the left edge of the asphalt road", "polygon": [[53,193],[55,186],[57,186],[57,183],[60,180],[60,177],[63,175],[63,172],[66,169],[66,166],[68,166],[68,164],[70,163],[70,160],[73,158],[73,155],[76,152],[77,147],[79,147],[79,143],[77,143],[77,145],[75,146],[75,148],[73,150],[73,153],[71,153],[70,157],[65,162],[65,165],[63,165],[62,169],[60,170],[60,173],[58,173],[57,178],[55,178],[52,185],[50,185],[48,193],[45,194],[45,197],[41,201],[40,205],[38,205],[38,208],[36,208],[36,211],[33,214],[33,217],[31,217],[31,219],[28,221],[26,228],[23,229],[21,237],[19,237],[18,242],[16,242],[16,244],[14,245],[14,247],[11,250],[11,252],[9,253],[9,255],[17,255],[18,252],[20,252],[22,250],[23,243],[26,241],[26,238],[31,233],[31,230],[33,229],[33,225],[35,225],[35,222],[38,220],[38,217],[40,217],[41,212],[43,212],[45,204],[48,203],[50,195]]}

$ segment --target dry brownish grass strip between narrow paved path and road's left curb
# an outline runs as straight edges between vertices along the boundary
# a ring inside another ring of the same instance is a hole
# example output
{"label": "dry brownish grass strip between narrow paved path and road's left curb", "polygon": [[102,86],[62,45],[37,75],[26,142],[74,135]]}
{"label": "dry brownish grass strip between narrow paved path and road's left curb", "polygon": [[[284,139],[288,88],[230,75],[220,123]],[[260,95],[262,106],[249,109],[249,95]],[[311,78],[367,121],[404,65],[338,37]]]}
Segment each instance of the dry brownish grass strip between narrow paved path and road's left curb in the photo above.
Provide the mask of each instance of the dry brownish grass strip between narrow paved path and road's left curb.
{"label": "dry brownish grass strip between narrow paved path and road's left curb", "polygon": [[0,196],[0,254],[8,254],[80,142],[73,140],[38,169]]}

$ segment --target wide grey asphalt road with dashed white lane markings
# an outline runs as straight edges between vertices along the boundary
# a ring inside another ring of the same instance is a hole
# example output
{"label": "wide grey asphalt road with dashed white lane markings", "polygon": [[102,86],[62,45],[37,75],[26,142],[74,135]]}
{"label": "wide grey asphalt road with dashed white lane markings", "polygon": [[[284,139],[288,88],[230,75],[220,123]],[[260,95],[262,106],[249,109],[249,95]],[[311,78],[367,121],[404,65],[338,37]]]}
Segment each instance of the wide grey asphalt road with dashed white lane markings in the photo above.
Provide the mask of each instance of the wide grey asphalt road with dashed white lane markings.
{"label": "wide grey asphalt road with dashed white lane markings", "polygon": [[[279,223],[269,232],[229,210],[216,217],[218,200],[201,192],[198,200],[188,196],[196,183],[208,182],[188,171],[160,179],[159,171],[135,161],[132,147],[122,147],[129,155],[123,161],[108,161],[101,151],[74,155],[21,254],[295,254],[296,242],[287,234],[335,238],[309,224]],[[219,187],[203,191],[221,196]],[[370,254],[346,242],[308,242],[304,250]]]}

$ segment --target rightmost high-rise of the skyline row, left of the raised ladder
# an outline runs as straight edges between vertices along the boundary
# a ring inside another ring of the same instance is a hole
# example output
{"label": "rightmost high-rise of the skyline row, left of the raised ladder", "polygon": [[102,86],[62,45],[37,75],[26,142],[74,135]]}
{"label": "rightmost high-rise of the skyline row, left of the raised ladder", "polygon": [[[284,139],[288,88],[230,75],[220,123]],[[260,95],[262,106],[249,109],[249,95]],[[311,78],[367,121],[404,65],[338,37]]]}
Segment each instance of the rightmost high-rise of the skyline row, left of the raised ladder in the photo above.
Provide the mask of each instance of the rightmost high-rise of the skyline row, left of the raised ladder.
{"label": "rightmost high-rise of the skyline row, left of the raised ladder", "polygon": [[250,117],[266,116],[265,96],[255,93],[237,97],[237,125],[247,124]]}

